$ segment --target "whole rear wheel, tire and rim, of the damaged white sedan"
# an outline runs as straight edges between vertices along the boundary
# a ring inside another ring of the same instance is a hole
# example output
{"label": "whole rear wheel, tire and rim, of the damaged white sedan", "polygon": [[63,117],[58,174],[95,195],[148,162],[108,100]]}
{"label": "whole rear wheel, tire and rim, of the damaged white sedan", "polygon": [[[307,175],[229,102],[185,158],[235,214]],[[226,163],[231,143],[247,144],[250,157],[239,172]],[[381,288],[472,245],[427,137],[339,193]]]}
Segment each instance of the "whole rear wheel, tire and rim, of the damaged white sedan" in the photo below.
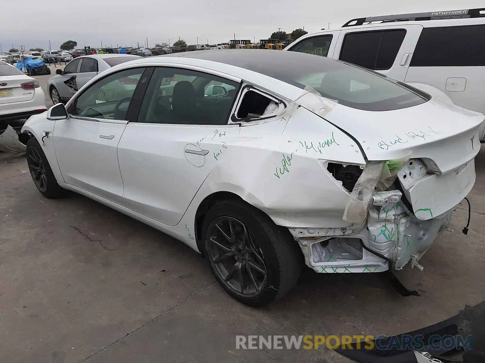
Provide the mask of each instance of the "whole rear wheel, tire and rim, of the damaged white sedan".
{"label": "whole rear wheel, tire and rim, of the damaged white sedan", "polygon": [[269,304],[300,276],[303,255],[290,232],[242,201],[215,204],[204,218],[202,238],[216,280],[246,305]]}

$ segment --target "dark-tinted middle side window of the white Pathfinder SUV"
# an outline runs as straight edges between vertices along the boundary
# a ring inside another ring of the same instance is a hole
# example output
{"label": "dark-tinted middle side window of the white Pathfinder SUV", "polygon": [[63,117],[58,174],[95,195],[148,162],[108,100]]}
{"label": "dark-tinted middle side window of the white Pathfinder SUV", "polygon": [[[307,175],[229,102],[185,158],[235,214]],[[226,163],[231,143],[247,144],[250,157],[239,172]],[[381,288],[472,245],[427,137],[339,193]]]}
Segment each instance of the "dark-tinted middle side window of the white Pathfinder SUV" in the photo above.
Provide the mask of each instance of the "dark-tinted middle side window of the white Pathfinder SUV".
{"label": "dark-tinted middle side window of the white Pathfinder SUV", "polygon": [[348,33],[343,40],[340,60],[372,70],[389,69],[405,35],[404,29]]}

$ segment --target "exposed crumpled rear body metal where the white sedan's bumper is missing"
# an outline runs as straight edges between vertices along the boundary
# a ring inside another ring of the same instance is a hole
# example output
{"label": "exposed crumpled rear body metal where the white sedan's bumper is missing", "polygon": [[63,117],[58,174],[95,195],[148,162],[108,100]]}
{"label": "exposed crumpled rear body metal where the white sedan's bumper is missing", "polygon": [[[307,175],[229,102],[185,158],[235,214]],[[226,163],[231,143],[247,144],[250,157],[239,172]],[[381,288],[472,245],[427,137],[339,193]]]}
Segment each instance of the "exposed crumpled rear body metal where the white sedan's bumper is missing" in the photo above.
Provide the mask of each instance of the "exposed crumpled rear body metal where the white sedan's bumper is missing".
{"label": "exposed crumpled rear body metal where the white sedan's bumper is missing", "polygon": [[[453,209],[422,221],[399,190],[374,192],[366,221],[345,228],[290,228],[316,272],[384,272],[422,266],[420,258],[448,227]],[[364,246],[362,246],[362,244]],[[393,269],[393,270],[394,270]]]}

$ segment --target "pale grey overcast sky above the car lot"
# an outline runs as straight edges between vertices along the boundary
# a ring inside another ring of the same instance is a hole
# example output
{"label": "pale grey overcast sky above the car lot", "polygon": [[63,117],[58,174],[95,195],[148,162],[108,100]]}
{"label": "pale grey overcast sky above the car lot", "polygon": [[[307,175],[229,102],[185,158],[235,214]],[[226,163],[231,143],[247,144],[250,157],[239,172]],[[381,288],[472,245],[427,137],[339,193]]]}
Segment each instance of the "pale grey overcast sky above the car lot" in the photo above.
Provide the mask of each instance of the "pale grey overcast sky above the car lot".
{"label": "pale grey overcast sky above the car lot", "polygon": [[[66,40],[78,47],[141,46],[184,39],[187,44],[222,43],[229,39],[268,38],[277,28],[309,32],[338,28],[370,15],[461,10],[483,6],[483,0],[3,0],[0,44],[27,49],[58,49]],[[29,26],[30,24],[30,26]]]}

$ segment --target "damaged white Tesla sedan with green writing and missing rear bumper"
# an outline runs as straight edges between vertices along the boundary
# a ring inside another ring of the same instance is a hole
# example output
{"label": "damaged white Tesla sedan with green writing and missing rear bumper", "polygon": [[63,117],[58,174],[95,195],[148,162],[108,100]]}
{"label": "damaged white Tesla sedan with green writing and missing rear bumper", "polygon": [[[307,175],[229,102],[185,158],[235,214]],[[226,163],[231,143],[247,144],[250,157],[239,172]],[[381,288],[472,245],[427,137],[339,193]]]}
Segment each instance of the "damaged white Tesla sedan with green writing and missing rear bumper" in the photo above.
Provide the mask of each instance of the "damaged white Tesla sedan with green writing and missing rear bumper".
{"label": "damaged white Tesla sedan with green writing and missing rear bumper", "polygon": [[45,197],[72,190],[178,238],[261,306],[305,264],[421,267],[474,184],[483,119],[344,62],[237,49],[120,64],[22,131]]}

